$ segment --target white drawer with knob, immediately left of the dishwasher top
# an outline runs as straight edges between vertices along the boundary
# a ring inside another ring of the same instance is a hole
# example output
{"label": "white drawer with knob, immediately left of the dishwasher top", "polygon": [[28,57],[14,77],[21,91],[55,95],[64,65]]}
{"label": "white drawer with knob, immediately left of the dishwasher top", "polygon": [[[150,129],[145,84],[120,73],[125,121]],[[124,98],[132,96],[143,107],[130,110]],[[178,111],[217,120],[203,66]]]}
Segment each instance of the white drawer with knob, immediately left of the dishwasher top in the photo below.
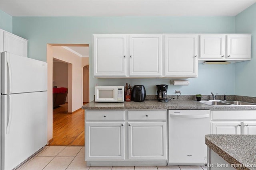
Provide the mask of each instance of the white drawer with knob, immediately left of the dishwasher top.
{"label": "white drawer with knob, immediately left of the dishwasher top", "polygon": [[166,120],[167,110],[128,111],[128,120]]}

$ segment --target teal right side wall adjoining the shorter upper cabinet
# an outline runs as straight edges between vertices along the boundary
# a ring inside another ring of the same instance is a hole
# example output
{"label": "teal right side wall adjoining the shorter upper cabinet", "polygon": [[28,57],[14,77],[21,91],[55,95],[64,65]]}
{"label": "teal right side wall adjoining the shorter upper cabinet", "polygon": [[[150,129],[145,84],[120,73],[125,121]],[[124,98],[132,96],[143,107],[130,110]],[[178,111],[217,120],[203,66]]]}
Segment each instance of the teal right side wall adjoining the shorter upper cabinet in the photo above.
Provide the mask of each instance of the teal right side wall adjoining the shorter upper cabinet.
{"label": "teal right side wall adjoining the shorter upper cabinet", "polygon": [[256,4],[236,16],[236,33],[252,34],[251,61],[235,64],[235,92],[240,96],[256,97]]}

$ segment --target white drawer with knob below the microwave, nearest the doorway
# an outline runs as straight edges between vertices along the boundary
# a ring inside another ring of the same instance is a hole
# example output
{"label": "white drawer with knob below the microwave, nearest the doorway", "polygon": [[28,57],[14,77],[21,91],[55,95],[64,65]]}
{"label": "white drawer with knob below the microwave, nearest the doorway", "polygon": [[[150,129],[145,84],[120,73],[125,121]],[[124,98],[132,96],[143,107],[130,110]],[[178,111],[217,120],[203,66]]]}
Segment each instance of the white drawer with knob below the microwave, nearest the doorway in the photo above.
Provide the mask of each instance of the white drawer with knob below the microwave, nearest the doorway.
{"label": "white drawer with knob below the microwave, nearest the doorway", "polygon": [[124,121],[124,110],[120,111],[85,111],[86,121]]}

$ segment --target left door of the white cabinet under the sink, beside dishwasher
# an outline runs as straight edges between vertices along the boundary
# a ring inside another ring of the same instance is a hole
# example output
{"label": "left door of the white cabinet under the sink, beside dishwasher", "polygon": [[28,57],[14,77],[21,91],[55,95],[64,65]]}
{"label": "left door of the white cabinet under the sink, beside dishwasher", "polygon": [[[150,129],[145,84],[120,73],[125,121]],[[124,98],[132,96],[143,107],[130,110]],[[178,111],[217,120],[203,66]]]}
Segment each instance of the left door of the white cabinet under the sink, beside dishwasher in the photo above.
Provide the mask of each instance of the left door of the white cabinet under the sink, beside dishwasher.
{"label": "left door of the white cabinet under the sink, beside dishwasher", "polygon": [[240,121],[212,122],[212,134],[241,135]]}

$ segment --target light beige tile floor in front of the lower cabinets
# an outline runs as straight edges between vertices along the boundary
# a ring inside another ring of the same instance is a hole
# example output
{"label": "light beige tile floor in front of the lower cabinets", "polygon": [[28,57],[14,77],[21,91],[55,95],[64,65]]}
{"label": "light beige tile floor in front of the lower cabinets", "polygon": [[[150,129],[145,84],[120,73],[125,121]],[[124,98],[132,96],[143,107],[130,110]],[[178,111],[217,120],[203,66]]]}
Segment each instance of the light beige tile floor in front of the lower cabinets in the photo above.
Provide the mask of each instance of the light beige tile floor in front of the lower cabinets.
{"label": "light beige tile floor in front of the lower cabinets", "polygon": [[84,147],[46,146],[17,170],[206,170],[203,166],[86,166]]}

